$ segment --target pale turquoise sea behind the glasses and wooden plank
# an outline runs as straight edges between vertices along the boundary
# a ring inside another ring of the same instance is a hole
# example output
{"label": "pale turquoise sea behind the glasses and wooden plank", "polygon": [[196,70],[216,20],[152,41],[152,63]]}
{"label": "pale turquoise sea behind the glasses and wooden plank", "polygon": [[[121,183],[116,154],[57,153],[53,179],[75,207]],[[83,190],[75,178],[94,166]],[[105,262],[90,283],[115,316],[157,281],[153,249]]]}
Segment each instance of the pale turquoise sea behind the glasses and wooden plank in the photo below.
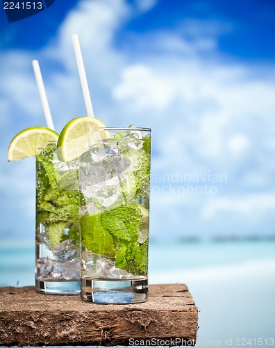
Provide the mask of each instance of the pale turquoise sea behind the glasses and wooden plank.
{"label": "pale turquoise sea behind the glasses and wooden plank", "polygon": [[[34,285],[34,258],[32,242],[2,242],[0,286]],[[149,283],[188,285],[197,346],[275,345],[275,240],[152,241]]]}

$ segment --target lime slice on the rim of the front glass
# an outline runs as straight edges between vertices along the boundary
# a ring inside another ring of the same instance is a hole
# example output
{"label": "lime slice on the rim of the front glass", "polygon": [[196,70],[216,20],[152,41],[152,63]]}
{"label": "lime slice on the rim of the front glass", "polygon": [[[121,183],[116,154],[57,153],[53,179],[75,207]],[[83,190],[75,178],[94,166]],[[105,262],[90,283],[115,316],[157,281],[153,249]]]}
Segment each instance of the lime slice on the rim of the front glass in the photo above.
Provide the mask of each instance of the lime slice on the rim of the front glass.
{"label": "lime slice on the rim of the front glass", "polygon": [[97,141],[110,138],[110,133],[101,128],[106,128],[106,125],[94,117],[78,117],[69,121],[58,139],[60,161],[72,161],[88,151]]}

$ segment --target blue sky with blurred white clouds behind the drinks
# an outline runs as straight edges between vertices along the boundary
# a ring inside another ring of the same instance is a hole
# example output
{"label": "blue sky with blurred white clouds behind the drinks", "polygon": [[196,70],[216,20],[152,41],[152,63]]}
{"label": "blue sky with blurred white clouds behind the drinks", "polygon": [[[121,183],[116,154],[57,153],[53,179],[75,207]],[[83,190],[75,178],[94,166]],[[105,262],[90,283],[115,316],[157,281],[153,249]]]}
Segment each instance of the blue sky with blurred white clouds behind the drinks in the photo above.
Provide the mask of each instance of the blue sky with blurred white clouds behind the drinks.
{"label": "blue sky with blurred white clouds behind the drinks", "polygon": [[[65,6],[65,7],[64,7]],[[78,33],[97,118],[153,129],[151,235],[274,235],[273,1],[56,0],[9,24],[0,10],[1,238],[34,236],[35,161],[12,137],[85,116]]]}

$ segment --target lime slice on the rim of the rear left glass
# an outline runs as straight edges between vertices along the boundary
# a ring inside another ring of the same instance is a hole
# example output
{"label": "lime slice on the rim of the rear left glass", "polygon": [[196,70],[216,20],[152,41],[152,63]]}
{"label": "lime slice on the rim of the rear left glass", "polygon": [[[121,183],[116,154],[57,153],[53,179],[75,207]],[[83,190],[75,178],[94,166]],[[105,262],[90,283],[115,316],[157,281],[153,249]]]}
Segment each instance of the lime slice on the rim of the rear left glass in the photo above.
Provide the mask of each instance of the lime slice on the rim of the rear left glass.
{"label": "lime slice on the rim of the rear left glass", "polygon": [[41,148],[58,141],[58,134],[47,127],[30,127],[19,132],[8,148],[8,161],[39,155]]}

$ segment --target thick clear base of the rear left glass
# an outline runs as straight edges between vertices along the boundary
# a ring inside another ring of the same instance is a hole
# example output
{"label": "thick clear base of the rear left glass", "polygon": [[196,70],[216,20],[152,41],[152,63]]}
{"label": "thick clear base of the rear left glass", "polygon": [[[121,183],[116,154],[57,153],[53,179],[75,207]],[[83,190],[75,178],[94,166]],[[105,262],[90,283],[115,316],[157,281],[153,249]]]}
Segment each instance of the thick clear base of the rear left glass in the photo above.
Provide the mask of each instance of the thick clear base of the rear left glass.
{"label": "thick clear base of the rear left glass", "polygon": [[79,280],[35,281],[37,292],[52,295],[78,295],[80,294],[80,285]]}

